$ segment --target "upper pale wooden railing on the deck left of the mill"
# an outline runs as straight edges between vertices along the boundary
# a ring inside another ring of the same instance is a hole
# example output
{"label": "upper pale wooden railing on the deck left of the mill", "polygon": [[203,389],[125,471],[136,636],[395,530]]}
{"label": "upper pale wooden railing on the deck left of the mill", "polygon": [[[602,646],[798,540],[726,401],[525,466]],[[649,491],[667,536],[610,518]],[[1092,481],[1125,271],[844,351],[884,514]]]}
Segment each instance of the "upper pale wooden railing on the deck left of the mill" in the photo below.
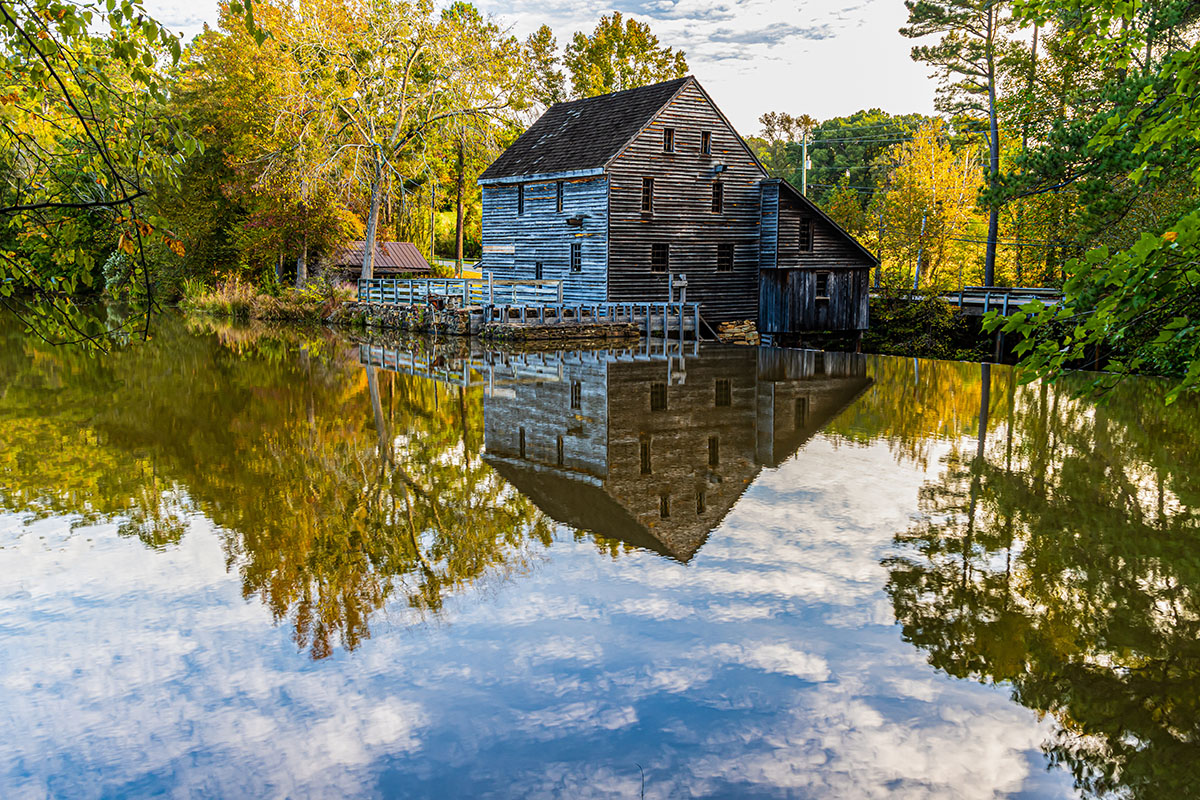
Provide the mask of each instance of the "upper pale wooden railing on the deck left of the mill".
{"label": "upper pale wooden railing on the deck left of the mill", "polygon": [[458,301],[463,306],[540,306],[563,302],[562,281],[494,281],[484,278],[362,278],[359,302],[402,306]]}

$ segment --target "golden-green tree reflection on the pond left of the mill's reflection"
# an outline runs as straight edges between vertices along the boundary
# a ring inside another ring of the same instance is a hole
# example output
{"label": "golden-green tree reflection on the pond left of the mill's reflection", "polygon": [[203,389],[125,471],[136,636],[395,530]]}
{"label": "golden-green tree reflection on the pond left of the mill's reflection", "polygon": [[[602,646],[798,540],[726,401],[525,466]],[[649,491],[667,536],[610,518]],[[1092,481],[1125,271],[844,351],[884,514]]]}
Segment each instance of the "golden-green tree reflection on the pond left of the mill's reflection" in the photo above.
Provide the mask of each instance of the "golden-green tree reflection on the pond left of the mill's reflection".
{"label": "golden-green tree reflection on the pond left of the mill's reflection", "polygon": [[164,320],[106,359],[10,335],[0,507],[115,519],[154,547],[203,513],[244,594],[313,657],[356,646],[389,601],[437,613],[548,545],[548,523],[480,457],[478,392],[368,375],[322,332],[214,327]]}

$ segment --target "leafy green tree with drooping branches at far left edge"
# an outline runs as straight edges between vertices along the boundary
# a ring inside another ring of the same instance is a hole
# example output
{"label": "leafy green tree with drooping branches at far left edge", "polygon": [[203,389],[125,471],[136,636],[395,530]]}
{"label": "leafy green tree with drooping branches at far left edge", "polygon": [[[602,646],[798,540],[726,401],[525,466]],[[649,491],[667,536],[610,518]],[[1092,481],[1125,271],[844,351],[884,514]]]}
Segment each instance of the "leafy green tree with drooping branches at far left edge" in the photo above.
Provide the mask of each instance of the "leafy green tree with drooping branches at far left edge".
{"label": "leafy green tree with drooping branches at far left edge", "polygon": [[133,258],[152,302],[145,246],[181,247],[145,204],[194,148],[156,106],[179,53],[133,0],[0,4],[0,301],[46,338],[106,347],[73,305],[103,251]]}

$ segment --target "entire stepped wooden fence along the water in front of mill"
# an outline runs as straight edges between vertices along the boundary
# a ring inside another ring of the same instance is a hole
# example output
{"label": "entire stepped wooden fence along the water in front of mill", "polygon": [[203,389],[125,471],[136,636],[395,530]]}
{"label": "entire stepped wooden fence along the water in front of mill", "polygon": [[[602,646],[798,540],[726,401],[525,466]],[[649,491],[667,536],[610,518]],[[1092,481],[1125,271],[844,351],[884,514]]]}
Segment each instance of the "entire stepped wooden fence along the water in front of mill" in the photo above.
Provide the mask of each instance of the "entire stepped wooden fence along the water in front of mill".
{"label": "entire stepped wooden fence along the water in front of mill", "polygon": [[700,338],[698,302],[563,302],[560,281],[486,278],[368,278],[359,281],[359,302],[431,303],[474,309],[484,323],[632,323],[646,336],[662,332]]}

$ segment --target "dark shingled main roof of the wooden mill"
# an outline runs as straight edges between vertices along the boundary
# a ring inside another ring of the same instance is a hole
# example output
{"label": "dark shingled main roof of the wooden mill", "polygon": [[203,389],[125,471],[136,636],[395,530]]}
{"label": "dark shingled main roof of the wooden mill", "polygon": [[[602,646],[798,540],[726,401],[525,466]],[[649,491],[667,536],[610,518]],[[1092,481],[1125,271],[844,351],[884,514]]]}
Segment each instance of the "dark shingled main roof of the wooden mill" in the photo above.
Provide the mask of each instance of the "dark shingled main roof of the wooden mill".
{"label": "dark shingled main roof of the wooden mill", "polygon": [[691,77],[551,106],[479,180],[604,167]]}

